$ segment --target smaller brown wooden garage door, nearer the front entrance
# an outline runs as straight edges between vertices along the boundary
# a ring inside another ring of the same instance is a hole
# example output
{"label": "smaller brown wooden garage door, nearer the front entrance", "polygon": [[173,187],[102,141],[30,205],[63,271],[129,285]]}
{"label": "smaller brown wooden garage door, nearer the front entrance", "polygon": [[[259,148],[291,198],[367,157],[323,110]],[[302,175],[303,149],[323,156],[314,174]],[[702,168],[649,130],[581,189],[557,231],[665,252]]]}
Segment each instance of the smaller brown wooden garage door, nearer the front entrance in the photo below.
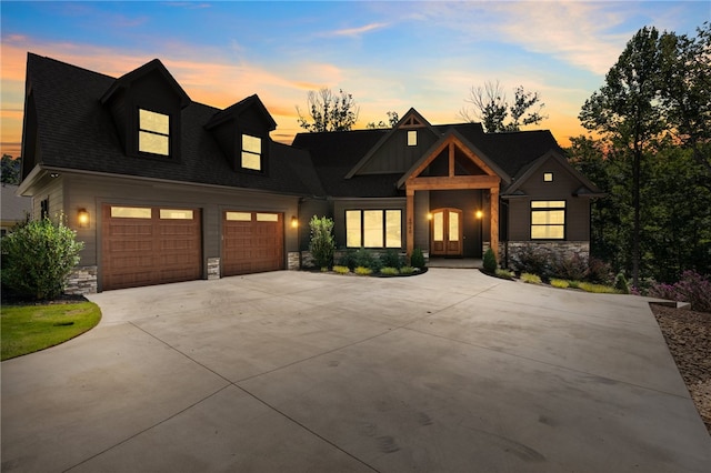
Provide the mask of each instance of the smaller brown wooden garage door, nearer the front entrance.
{"label": "smaller brown wooden garage door, nearer the front entrance", "polygon": [[222,275],[277,271],[284,268],[281,213],[224,212]]}

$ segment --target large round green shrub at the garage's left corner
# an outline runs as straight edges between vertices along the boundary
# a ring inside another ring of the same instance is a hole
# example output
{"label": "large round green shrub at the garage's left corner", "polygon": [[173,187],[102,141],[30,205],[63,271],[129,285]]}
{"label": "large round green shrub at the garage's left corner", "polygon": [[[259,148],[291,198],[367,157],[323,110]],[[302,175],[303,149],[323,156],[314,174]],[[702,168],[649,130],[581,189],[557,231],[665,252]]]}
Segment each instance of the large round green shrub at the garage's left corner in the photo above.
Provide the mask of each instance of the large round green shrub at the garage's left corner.
{"label": "large round green shrub at the garage's left corner", "polygon": [[84,248],[76,236],[61,219],[59,223],[34,220],[14,229],[2,239],[2,283],[22,298],[57,298]]}

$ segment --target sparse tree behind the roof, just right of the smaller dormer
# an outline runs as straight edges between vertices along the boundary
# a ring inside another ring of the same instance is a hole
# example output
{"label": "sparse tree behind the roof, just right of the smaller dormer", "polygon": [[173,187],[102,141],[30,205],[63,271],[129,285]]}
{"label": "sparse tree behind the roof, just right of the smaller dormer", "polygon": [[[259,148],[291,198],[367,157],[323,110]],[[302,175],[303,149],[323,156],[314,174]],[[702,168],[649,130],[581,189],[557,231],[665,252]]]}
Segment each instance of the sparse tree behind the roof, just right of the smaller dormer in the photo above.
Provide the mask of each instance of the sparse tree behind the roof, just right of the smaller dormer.
{"label": "sparse tree behind the roof, just right of the smaller dormer", "polygon": [[358,120],[359,108],[353,95],[339,90],[336,94],[331,89],[309,91],[307,94],[309,117],[299,113],[299,127],[316,133],[320,131],[349,131]]}

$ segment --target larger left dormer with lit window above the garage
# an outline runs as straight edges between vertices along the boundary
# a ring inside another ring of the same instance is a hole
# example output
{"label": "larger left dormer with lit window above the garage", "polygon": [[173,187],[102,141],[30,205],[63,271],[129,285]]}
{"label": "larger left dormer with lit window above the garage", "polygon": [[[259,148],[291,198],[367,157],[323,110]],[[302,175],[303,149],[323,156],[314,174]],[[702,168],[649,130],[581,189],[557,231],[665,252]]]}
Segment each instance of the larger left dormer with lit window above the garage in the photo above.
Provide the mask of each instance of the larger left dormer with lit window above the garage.
{"label": "larger left dormer with lit window above the garage", "polygon": [[127,155],[180,159],[181,110],[190,98],[158,59],[117,79],[101,103]]}

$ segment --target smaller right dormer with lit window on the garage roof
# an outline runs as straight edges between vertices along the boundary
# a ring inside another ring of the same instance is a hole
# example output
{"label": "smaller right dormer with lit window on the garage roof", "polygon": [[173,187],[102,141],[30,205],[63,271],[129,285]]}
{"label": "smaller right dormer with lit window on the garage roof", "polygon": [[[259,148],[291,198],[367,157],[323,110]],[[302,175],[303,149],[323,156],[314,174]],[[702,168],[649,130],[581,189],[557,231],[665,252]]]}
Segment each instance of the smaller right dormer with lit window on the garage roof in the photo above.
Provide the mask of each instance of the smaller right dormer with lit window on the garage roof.
{"label": "smaller right dormer with lit window on the garage roof", "polygon": [[234,171],[267,172],[269,132],[277,129],[277,122],[258,95],[219,111],[204,129],[214,137]]}

